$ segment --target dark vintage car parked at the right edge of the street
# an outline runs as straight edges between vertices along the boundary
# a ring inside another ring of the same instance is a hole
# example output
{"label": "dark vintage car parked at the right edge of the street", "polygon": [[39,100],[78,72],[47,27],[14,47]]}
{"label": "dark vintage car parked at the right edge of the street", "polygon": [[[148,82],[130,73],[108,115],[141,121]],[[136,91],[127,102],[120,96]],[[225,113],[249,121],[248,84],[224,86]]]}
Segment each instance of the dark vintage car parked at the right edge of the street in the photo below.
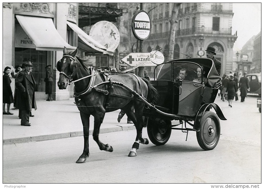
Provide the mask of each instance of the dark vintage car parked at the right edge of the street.
{"label": "dark vintage car parked at the right edge of the street", "polygon": [[256,93],[261,96],[261,73],[251,73],[246,77],[249,79],[250,91],[248,93]]}

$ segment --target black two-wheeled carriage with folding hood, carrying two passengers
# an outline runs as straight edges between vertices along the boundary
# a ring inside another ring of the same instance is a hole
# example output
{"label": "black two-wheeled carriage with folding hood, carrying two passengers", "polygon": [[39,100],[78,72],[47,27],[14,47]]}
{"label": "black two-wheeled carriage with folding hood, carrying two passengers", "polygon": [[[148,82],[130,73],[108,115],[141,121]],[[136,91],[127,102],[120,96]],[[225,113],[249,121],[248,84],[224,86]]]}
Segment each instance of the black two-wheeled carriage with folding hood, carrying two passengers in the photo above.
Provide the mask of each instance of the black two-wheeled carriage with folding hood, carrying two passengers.
{"label": "black two-wheeled carriage with folding hood, carrying two passengers", "polygon": [[[181,68],[185,68],[187,73],[183,80],[178,76]],[[195,81],[198,68],[204,72],[200,82]],[[143,111],[151,142],[155,145],[166,144],[171,130],[176,129],[186,132],[187,136],[188,131],[196,131],[201,148],[215,148],[220,137],[218,117],[221,120],[226,118],[214,103],[221,78],[213,61],[208,58],[170,60],[156,66],[151,83],[160,95],[155,108],[147,107]],[[210,111],[212,108],[216,113]],[[178,120],[178,123],[173,125],[172,120]]]}

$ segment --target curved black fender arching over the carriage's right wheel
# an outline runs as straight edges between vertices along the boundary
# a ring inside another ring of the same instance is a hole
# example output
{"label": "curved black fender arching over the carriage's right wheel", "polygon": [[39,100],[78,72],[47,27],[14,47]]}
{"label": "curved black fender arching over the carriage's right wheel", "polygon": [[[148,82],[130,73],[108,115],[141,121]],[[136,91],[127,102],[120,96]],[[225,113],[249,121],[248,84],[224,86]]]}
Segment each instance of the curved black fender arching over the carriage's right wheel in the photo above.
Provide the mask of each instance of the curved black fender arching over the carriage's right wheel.
{"label": "curved black fender arching over the carriage's right wheel", "polygon": [[201,118],[203,116],[203,114],[206,111],[210,111],[210,108],[213,107],[213,109],[216,111],[217,116],[219,117],[219,119],[221,120],[227,120],[224,117],[224,114],[222,112],[222,110],[220,109],[220,107],[215,104],[215,103],[205,103],[203,104],[203,106],[201,106],[201,108],[198,110],[195,121],[194,121],[194,127],[193,129],[200,131],[200,122],[201,122]]}

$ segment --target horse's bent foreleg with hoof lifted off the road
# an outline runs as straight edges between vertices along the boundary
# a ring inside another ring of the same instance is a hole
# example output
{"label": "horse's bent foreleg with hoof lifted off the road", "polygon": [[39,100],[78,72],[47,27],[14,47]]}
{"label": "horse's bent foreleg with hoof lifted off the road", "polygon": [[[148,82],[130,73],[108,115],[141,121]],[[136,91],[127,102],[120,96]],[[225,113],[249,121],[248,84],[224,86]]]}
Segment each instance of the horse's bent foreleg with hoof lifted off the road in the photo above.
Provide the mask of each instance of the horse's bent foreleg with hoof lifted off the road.
{"label": "horse's bent foreleg with hoof lifted off the road", "polygon": [[94,132],[93,138],[95,142],[98,144],[100,150],[105,150],[107,152],[112,152],[113,148],[109,144],[104,144],[99,140],[99,131],[100,126],[104,119],[105,110],[102,108],[100,111],[95,112],[94,115]]}

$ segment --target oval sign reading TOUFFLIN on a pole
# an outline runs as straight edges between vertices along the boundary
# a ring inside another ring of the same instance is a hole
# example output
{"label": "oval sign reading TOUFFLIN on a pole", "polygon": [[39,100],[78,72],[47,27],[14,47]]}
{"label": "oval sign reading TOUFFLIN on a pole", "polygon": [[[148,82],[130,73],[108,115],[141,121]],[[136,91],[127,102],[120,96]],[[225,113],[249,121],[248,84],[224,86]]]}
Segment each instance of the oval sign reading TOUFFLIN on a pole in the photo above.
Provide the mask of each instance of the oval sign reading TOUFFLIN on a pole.
{"label": "oval sign reading TOUFFLIN on a pole", "polygon": [[149,37],[151,30],[150,17],[147,12],[140,10],[132,19],[132,32],[136,39],[145,40]]}

